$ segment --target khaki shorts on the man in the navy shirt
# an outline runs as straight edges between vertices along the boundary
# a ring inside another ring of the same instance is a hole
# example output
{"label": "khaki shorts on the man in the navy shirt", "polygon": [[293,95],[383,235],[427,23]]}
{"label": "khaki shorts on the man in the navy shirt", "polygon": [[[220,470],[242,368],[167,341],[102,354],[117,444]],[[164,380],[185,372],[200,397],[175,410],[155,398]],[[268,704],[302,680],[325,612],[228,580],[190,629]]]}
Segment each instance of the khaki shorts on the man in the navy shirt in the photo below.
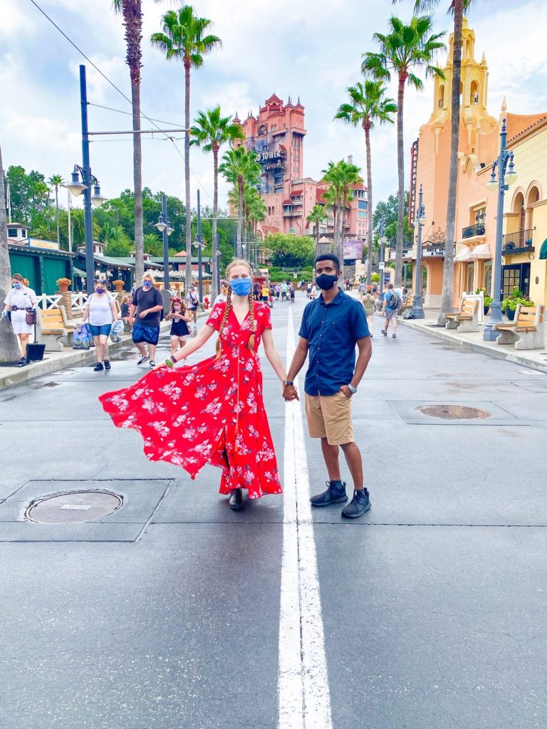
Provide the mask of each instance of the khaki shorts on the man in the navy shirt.
{"label": "khaki shorts on the man in the navy shirt", "polygon": [[343,392],[306,394],[306,417],[311,438],[326,437],[329,445],[354,443],[352,398],[347,398]]}

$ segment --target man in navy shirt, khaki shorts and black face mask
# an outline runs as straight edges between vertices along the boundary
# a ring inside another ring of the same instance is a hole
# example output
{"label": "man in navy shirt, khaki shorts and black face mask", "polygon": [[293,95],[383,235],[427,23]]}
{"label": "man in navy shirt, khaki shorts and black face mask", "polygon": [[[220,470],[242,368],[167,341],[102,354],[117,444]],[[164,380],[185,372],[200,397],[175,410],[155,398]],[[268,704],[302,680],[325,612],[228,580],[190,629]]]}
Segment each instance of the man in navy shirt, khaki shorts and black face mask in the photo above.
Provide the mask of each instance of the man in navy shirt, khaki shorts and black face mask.
{"label": "man in navy shirt, khaki shorts and black face mask", "polygon": [[[340,262],[330,253],[315,259],[315,282],[321,295],[304,309],[300,340],[292,358],[283,397],[298,398],[293,380],[309,354],[306,372],[306,417],[310,437],[321,438],[329,480],[327,490],[312,496],[314,507],[346,502],[346,484],[340,476],[339,448],[352,474],[354,495],[342,516],[357,518],[371,508],[363,488],[361,453],[354,441],[352,397],[371,359],[371,335],[362,305],[338,287]],[[359,350],[355,362],[355,345]]]}

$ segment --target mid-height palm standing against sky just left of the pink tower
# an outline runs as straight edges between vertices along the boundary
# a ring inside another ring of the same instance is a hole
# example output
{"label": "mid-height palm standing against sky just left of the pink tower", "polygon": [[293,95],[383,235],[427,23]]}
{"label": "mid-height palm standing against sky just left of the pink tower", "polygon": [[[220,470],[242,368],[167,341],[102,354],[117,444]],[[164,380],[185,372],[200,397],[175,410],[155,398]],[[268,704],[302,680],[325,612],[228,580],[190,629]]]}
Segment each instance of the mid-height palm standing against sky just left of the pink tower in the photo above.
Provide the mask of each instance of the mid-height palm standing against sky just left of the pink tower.
{"label": "mid-height palm standing against sky just left of the pink tower", "polygon": [[[240,125],[233,124],[231,117],[222,117],[220,104],[206,112],[198,112],[195,124],[190,128],[190,144],[196,144],[203,152],[213,153],[213,225],[212,225],[212,260],[217,260],[217,213],[218,213],[218,153],[222,144],[231,143],[234,139],[244,139],[245,135]],[[213,276],[211,298],[217,297],[217,277]]]}

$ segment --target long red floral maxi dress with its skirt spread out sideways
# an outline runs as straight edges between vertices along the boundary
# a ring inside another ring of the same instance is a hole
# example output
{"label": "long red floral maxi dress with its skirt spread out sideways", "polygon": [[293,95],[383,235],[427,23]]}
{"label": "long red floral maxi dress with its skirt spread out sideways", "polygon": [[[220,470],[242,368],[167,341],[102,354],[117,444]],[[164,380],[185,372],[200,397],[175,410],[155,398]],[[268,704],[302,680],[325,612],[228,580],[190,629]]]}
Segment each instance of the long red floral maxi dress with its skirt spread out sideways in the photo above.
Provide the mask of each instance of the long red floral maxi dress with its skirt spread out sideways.
{"label": "long red floral maxi dress with its skirt spread out sideways", "polygon": [[[144,438],[150,461],[181,466],[192,478],[205,464],[222,468],[220,494],[247,488],[249,499],[281,494],[274,444],[264,410],[260,335],[271,329],[270,310],[255,307],[255,351],[249,314],[239,324],[233,309],[222,329],[220,358],[193,367],[160,367],[127,389],[99,397],[119,428]],[[214,306],[206,324],[220,330],[226,304]]]}

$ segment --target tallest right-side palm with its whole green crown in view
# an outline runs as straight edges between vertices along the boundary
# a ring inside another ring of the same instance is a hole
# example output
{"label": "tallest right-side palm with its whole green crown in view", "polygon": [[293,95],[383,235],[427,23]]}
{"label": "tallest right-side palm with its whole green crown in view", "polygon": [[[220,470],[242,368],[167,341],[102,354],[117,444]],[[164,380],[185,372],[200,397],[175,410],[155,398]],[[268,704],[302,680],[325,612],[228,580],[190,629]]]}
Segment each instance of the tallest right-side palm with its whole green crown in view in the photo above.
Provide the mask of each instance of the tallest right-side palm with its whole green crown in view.
{"label": "tallest right-side palm with its whole green crown in view", "polygon": [[433,74],[443,78],[441,69],[433,66],[435,52],[445,47],[441,41],[444,33],[431,34],[432,17],[413,17],[407,25],[400,18],[389,18],[389,34],[375,33],[373,39],[379,43],[377,53],[364,53],[361,70],[379,81],[389,81],[391,74],[397,74],[397,173],[399,178],[399,210],[397,217],[397,247],[395,249],[395,283],[401,283],[403,273],[403,218],[405,203],[405,152],[403,146],[403,106],[405,85],[422,90],[423,82],[414,69],[424,69],[426,76]]}

